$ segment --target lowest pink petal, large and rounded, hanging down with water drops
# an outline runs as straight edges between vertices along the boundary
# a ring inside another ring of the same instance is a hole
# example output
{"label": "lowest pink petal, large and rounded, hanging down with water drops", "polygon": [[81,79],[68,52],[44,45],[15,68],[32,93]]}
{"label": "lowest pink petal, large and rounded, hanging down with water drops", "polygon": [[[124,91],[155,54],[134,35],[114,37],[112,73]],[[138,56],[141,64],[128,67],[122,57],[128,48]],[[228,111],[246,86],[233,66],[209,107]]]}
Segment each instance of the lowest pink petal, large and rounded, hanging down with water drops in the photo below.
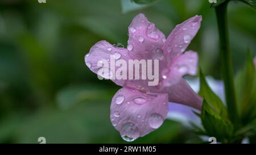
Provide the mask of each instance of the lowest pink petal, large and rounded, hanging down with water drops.
{"label": "lowest pink petal, large and rounded, hanging down with water drops", "polygon": [[110,119],[124,140],[133,141],[159,128],[167,112],[167,94],[122,88],[112,99]]}

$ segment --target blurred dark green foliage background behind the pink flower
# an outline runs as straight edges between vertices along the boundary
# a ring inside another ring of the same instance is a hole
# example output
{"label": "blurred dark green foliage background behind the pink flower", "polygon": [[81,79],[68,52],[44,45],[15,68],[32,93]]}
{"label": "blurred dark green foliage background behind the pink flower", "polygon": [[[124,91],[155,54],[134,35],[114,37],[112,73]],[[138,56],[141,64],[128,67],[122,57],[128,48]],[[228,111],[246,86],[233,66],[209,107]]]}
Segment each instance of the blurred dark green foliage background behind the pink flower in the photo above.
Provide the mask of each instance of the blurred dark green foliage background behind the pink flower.
{"label": "blurred dark green foliage background behind the pink flower", "polygon": [[[127,45],[127,27],[142,12],[166,36],[176,24],[203,15],[189,49],[204,73],[220,79],[218,35],[208,0],[162,0],[138,6],[130,0],[0,0],[0,143],[126,143],[112,127],[110,101],[120,88],[100,81],[84,55],[100,40]],[[240,2],[228,8],[234,72],[247,48],[256,55],[255,11]],[[196,143],[178,122],[133,143]]]}

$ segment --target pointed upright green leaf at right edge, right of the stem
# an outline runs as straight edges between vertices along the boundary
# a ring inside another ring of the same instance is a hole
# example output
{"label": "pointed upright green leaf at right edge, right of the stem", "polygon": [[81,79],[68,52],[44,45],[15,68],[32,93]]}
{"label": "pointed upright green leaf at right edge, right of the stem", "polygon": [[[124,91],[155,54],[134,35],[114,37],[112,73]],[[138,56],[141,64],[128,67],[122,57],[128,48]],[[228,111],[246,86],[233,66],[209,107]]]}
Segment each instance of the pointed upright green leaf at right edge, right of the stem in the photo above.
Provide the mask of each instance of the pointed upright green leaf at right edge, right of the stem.
{"label": "pointed upright green leaf at right edge, right of the stem", "polygon": [[256,72],[250,50],[246,64],[235,78],[236,96],[243,123],[249,123],[256,117]]}

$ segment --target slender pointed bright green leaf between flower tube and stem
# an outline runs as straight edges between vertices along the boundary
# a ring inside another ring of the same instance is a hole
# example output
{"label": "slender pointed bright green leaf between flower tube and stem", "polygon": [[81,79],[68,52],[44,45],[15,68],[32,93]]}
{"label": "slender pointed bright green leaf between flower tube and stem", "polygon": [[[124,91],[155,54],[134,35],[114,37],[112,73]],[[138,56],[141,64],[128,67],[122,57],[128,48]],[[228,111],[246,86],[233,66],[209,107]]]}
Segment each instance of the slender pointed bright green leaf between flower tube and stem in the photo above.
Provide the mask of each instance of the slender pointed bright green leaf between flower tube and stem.
{"label": "slender pointed bright green leaf between flower tube and stem", "polygon": [[218,98],[216,94],[213,93],[213,91],[210,89],[210,87],[207,84],[207,81],[205,80],[203,72],[200,70],[200,91],[199,95],[203,97],[210,105],[210,108],[214,110],[214,112],[217,112],[222,118],[227,119],[228,113],[226,110],[226,107],[222,103],[221,99]]}

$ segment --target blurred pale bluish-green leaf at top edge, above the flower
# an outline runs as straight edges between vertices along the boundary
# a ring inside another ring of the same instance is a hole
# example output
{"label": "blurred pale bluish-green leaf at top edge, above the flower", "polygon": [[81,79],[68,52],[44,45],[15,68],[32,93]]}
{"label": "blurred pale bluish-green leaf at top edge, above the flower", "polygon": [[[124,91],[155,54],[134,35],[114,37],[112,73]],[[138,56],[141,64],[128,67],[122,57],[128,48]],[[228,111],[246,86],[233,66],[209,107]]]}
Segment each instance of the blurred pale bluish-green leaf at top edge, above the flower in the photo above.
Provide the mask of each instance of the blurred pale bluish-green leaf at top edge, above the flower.
{"label": "blurred pale bluish-green leaf at top edge, above the flower", "polygon": [[121,0],[122,13],[126,14],[131,11],[144,9],[158,1],[159,0]]}

